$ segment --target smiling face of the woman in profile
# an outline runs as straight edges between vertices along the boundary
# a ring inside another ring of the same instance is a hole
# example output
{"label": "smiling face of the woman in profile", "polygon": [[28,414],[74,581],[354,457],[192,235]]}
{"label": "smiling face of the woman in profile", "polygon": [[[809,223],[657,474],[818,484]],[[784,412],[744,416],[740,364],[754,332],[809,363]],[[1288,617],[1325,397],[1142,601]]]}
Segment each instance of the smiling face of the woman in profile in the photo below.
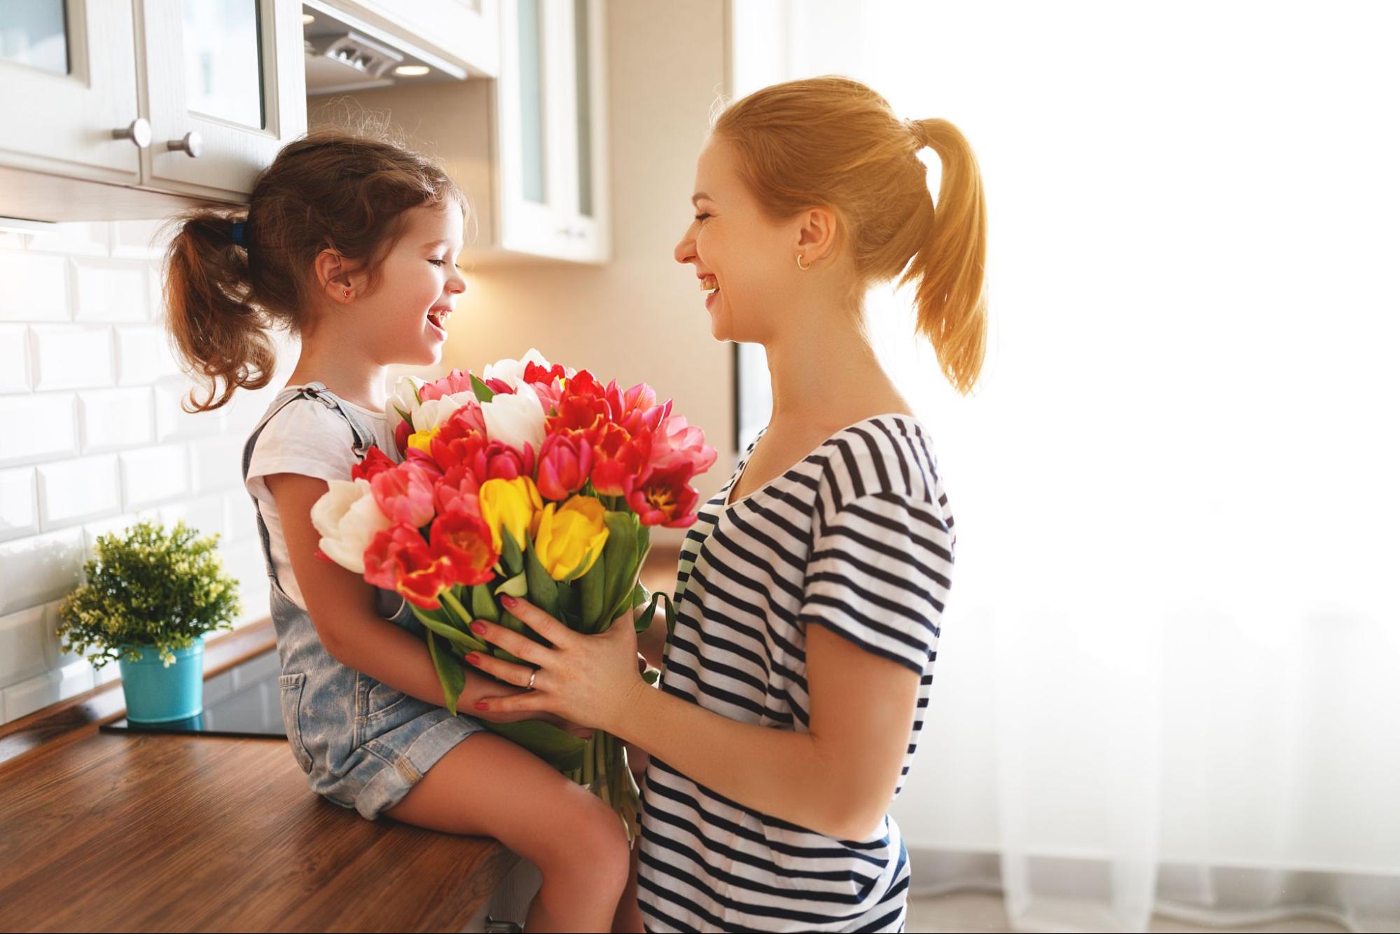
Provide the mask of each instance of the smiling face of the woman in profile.
{"label": "smiling face of the woman in profile", "polygon": [[794,223],[763,214],[739,176],[734,147],[720,136],[700,150],[694,192],[696,217],[676,244],[676,262],[693,265],[711,293],[706,308],[717,340],[764,343],[797,272]]}

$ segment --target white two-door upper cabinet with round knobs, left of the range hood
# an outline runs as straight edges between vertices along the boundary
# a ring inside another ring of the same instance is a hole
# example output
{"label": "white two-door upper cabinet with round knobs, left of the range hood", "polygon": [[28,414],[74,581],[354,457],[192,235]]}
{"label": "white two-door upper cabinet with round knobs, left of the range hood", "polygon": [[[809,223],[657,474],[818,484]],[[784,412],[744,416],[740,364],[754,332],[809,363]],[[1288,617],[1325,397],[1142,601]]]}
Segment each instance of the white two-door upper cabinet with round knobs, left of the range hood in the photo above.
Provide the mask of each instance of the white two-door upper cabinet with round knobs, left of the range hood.
{"label": "white two-door upper cabinet with round knobs, left of the range hood", "polygon": [[287,0],[6,0],[0,214],[161,217],[241,202],[305,130]]}

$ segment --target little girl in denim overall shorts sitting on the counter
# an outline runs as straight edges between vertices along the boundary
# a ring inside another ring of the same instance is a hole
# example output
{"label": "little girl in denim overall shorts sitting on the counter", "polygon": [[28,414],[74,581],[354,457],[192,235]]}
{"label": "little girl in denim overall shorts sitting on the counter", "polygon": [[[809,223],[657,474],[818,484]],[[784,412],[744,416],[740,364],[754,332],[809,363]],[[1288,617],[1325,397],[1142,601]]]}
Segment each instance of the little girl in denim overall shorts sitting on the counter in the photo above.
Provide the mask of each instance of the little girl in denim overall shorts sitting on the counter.
{"label": "little girl in denim overall shorts sitting on the counter", "polygon": [[[386,367],[441,356],[442,325],[465,288],[455,265],[465,211],[423,157],[311,133],[262,172],[242,220],[227,209],[181,218],[169,325],[209,381],[207,395],[192,396],[197,410],[269,382],[269,329],[301,337],[295,371],[242,465],[272,584],[283,723],[311,788],[371,821],[501,840],[543,875],[526,930],[609,930],[629,872],[617,816],[479,720],[449,714],[405,601],[316,557],[311,511],[326,482],[349,479],[371,444],[395,451]],[[472,675],[459,703],[470,710],[500,689]]]}

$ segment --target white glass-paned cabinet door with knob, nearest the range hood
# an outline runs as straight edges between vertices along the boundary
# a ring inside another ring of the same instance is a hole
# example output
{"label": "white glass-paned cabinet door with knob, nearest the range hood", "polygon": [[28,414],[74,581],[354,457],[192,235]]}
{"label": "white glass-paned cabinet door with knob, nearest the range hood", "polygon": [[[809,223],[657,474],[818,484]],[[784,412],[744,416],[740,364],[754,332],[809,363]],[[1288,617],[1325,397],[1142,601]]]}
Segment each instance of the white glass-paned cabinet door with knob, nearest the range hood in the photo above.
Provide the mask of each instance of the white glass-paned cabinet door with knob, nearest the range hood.
{"label": "white glass-paned cabinet door with knob, nearest the range hood", "polygon": [[154,136],[144,158],[146,183],[246,200],[258,172],[307,126],[301,6],[140,4]]}

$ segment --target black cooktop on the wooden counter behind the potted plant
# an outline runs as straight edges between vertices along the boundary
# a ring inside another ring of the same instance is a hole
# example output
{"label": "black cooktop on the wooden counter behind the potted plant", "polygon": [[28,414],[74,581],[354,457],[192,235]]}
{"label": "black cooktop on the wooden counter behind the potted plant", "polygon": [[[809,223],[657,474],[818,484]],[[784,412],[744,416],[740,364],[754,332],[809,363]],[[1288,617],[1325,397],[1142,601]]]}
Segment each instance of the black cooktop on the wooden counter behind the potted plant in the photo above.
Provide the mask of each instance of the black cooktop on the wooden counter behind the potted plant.
{"label": "black cooktop on the wooden counter behind the potted plant", "polygon": [[204,682],[204,711],[188,720],[129,723],[126,717],[102,727],[106,732],[192,732],[209,737],[286,738],[277,651],[269,650]]}

